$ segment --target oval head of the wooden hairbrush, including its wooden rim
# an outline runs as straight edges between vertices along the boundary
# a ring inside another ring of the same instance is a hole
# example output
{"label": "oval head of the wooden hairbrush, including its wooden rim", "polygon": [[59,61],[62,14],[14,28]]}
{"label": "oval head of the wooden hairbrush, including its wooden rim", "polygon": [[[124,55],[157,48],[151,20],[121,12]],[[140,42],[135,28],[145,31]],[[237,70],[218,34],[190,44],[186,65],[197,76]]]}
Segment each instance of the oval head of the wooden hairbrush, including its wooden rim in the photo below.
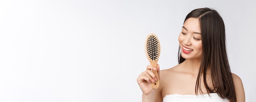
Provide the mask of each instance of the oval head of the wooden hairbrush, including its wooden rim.
{"label": "oval head of the wooden hairbrush, including its wooden rim", "polygon": [[153,33],[149,34],[146,38],[145,52],[149,61],[158,61],[160,56],[160,43],[157,36]]}

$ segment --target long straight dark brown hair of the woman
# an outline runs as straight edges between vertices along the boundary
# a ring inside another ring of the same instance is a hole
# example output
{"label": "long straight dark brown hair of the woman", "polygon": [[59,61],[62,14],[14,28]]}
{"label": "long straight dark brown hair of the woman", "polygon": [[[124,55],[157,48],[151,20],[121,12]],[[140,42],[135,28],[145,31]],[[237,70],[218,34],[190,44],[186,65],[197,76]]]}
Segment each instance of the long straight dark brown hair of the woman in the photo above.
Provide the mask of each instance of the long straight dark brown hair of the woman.
{"label": "long straight dark brown hair of the woman", "polygon": [[[198,90],[202,93],[200,80],[203,76],[207,93],[218,93],[221,98],[236,102],[234,82],[227,58],[225,26],[222,17],[216,10],[209,8],[191,11],[184,22],[191,17],[199,19],[202,34],[202,59],[196,80],[195,93],[198,94]],[[180,47],[178,55],[179,63],[186,60],[181,56]],[[213,89],[207,85],[207,67],[211,70]]]}

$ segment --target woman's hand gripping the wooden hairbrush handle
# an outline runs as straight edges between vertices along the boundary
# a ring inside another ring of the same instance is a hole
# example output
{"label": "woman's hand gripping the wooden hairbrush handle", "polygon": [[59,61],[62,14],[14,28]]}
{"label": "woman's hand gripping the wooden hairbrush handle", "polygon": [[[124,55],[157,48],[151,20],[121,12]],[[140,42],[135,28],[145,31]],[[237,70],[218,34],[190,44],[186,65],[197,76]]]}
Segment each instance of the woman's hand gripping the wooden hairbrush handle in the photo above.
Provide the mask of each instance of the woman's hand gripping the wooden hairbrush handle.
{"label": "woman's hand gripping the wooden hairbrush handle", "polygon": [[141,91],[143,92],[143,95],[149,95],[155,91],[155,89],[151,87],[151,82],[157,81],[157,77],[151,70],[157,70],[158,78],[160,79],[159,65],[157,64],[156,68],[152,65],[148,65],[146,71],[142,72],[137,78],[137,82]]}

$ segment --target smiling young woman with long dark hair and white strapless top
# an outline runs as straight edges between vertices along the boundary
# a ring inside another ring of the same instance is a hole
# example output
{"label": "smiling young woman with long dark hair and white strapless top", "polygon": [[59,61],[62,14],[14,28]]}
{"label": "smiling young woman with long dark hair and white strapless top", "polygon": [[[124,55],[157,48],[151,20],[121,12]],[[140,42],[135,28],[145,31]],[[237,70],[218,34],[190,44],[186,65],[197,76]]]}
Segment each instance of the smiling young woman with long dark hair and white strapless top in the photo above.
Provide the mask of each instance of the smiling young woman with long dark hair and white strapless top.
{"label": "smiling young woman with long dark hair and white strapless top", "polygon": [[[225,26],[216,10],[191,11],[178,39],[178,65],[161,71],[148,65],[138,76],[143,102],[245,102],[243,83],[229,67]],[[158,89],[151,87],[157,80],[151,70],[158,72]]]}

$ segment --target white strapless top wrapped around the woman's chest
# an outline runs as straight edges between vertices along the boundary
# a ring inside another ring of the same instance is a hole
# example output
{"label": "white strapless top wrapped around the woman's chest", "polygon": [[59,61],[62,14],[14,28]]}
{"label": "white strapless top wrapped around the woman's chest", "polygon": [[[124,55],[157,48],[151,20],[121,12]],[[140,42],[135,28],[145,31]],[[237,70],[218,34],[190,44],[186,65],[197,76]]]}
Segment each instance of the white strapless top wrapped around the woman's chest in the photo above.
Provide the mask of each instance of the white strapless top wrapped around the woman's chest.
{"label": "white strapless top wrapped around the woman's chest", "polygon": [[217,93],[209,93],[209,95],[171,94],[164,96],[163,102],[229,102],[228,99],[220,98],[220,96]]}

